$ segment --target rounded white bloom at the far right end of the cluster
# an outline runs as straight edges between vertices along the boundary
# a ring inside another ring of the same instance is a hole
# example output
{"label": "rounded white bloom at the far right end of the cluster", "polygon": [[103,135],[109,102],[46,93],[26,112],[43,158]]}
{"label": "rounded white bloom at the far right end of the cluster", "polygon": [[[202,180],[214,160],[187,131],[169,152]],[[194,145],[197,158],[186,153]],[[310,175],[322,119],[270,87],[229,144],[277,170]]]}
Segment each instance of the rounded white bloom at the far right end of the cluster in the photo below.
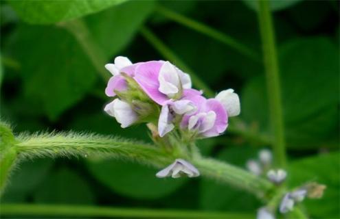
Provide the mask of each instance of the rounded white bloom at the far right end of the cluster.
{"label": "rounded white bloom at the far right end of the cluster", "polygon": [[215,99],[222,103],[229,117],[238,116],[240,114],[240,99],[233,89],[223,90],[219,92]]}

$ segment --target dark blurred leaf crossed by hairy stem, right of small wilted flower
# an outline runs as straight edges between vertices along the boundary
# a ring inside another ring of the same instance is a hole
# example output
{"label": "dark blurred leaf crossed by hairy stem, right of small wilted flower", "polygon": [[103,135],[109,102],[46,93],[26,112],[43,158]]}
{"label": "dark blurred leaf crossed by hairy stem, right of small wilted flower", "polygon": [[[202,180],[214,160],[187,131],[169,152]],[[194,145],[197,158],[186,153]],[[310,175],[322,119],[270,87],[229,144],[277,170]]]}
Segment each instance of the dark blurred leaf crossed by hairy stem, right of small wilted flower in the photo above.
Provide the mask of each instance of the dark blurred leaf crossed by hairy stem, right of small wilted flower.
{"label": "dark blurred leaf crossed by hairy stem, right of small wilted flower", "polygon": [[[247,160],[257,156],[257,151],[246,146],[231,146],[221,151],[217,158],[244,167]],[[201,179],[201,207],[210,211],[256,211],[260,206],[256,197],[245,191],[209,179]]]}

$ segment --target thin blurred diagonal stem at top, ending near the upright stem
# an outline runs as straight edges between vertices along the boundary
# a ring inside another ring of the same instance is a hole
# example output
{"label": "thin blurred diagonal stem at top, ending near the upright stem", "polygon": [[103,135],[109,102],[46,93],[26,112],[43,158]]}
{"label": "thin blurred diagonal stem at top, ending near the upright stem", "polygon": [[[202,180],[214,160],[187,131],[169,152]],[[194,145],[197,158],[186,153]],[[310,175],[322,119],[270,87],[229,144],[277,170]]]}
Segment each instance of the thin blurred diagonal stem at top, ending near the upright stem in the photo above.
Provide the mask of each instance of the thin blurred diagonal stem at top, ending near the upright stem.
{"label": "thin blurred diagonal stem at top, ending near the upright stem", "polygon": [[250,57],[252,60],[260,61],[258,53],[256,53],[252,49],[249,49],[248,47],[238,42],[238,40],[232,38],[231,36],[227,36],[226,34],[223,34],[222,32],[213,29],[212,27],[209,27],[203,23],[199,23],[198,21],[194,21],[181,14],[177,14],[176,12],[173,12],[168,8],[164,8],[161,5],[157,5],[156,12],[162,14],[163,16],[166,16],[166,18],[169,18],[172,21],[179,23],[180,25],[189,27],[190,29],[194,29],[195,31],[198,31],[201,34],[205,34],[206,36],[209,36],[215,40],[222,42],[223,44],[235,49],[236,51],[242,53],[243,55],[247,55],[247,57]]}

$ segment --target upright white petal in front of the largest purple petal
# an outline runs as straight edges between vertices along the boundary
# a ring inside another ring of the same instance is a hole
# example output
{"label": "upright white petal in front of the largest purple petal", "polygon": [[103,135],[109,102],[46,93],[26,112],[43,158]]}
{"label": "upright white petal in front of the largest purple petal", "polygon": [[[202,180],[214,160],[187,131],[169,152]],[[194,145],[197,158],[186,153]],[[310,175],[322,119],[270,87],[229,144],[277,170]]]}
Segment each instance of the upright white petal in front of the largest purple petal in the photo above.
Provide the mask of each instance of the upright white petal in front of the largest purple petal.
{"label": "upright white petal in front of the largest purple petal", "polygon": [[176,68],[170,62],[164,62],[159,70],[159,92],[168,95],[170,98],[180,90],[181,83]]}

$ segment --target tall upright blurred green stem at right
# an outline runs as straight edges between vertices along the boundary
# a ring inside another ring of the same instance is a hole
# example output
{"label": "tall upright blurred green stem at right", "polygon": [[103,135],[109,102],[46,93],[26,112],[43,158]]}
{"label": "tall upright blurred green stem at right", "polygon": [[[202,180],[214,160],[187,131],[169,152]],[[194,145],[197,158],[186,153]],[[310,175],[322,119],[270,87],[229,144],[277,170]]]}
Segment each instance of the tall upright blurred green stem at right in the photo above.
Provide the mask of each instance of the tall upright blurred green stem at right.
{"label": "tall upright blurred green stem at right", "polygon": [[269,9],[269,1],[258,1],[258,4],[258,18],[261,29],[264,68],[266,70],[267,92],[269,96],[269,111],[271,116],[271,126],[274,133],[273,151],[277,166],[284,167],[286,165],[284,123],[282,115],[280,74],[275,49],[273,21]]}

